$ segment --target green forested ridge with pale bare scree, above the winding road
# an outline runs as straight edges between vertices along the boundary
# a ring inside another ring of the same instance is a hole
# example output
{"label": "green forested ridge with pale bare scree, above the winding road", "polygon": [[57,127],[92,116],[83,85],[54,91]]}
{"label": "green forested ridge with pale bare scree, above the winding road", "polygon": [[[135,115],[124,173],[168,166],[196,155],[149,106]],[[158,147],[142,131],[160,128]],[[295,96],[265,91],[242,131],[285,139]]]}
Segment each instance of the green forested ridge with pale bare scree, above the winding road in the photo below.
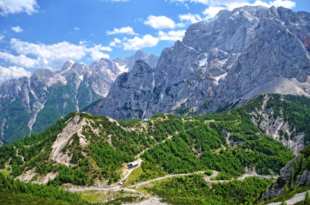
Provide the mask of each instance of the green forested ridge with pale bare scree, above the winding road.
{"label": "green forested ridge with pale bare scree, above the winding road", "polygon": [[253,123],[251,112],[261,98],[205,116],[157,114],[146,123],[71,113],[42,133],[0,147],[1,168],[38,182],[54,173],[49,183],[56,185],[110,184],[145,150],[139,180],[206,169],[219,171],[218,179],[246,171],[276,174],[294,155]]}

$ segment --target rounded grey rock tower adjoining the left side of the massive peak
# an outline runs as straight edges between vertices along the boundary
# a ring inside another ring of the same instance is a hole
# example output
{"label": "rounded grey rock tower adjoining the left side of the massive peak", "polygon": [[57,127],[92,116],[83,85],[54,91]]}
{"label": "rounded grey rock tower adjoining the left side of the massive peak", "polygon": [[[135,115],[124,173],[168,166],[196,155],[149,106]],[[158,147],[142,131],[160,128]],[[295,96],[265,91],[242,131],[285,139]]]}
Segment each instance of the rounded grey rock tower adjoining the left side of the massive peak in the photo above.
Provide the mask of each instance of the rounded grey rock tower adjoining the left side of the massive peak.
{"label": "rounded grey rock tower adjoining the left side of the massive peak", "polygon": [[136,61],[132,72],[117,77],[100,111],[123,119],[142,118],[152,98],[153,82],[153,69],[142,60]]}

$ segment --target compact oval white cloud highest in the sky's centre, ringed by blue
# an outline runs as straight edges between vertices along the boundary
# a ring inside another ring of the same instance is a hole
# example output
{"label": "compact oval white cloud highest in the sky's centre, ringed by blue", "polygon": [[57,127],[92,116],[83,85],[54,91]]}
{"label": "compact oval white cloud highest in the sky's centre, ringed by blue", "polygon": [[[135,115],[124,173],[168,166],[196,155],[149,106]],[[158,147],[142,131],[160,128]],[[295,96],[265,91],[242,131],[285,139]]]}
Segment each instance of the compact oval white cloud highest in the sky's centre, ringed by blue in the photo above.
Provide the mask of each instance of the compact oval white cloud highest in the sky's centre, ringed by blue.
{"label": "compact oval white cloud highest in the sky's centre, ringed by blue", "polygon": [[144,24],[149,25],[155,29],[175,28],[175,22],[166,16],[149,15],[144,21]]}

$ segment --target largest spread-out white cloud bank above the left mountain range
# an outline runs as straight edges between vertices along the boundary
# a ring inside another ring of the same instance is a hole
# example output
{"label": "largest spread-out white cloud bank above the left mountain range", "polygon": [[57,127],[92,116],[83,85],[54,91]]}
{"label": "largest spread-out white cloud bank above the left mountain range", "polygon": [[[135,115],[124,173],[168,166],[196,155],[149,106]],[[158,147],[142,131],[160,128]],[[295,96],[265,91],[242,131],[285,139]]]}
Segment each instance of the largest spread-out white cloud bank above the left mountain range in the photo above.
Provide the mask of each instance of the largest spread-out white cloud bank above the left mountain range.
{"label": "largest spread-out white cloud bank above the left mountain range", "polygon": [[[80,60],[87,54],[93,60],[98,58],[109,58],[108,54],[102,51],[112,51],[110,46],[94,45],[88,47],[84,41],[80,45],[75,45],[67,41],[57,44],[46,45],[43,43],[29,43],[19,39],[12,38],[10,46],[18,55],[12,55],[7,52],[0,52],[0,59],[4,59],[15,66],[23,68],[49,68],[58,70],[67,60]],[[26,55],[35,56],[29,58]],[[36,58],[36,59],[35,59]]]}

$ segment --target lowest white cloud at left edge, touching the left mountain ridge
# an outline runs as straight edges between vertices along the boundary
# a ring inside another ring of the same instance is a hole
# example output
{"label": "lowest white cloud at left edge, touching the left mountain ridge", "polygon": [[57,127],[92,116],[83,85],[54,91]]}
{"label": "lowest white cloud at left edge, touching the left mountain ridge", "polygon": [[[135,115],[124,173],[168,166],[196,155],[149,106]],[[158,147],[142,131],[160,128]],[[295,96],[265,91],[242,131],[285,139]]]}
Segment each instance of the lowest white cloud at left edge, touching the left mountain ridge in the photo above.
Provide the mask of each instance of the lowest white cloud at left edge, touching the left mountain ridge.
{"label": "lowest white cloud at left edge, touching the left mountain ridge", "polygon": [[9,68],[4,68],[0,66],[0,85],[12,78],[20,78],[22,76],[30,77],[31,72],[26,71],[24,68],[20,68],[17,66],[10,66]]}

